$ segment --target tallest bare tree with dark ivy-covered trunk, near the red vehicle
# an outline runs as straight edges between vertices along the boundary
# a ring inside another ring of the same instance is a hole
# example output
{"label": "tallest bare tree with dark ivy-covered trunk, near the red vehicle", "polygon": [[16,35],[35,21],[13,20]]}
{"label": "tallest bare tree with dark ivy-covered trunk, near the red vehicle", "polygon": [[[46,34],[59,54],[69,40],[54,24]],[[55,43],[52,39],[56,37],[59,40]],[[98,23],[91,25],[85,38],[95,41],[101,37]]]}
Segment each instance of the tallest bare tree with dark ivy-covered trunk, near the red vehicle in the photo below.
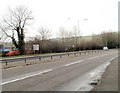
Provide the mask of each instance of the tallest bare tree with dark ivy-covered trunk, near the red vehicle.
{"label": "tallest bare tree with dark ivy-covered trunk, near the red vehicle", "polygon": [[16,7],[13,10],[10,9],[0,25],[1,30],[12,39],[20,54],[24,53],[24,29],[28,25],[29,20],[33,19],[31,14],[32,11],[29,11],[25,6]]}

